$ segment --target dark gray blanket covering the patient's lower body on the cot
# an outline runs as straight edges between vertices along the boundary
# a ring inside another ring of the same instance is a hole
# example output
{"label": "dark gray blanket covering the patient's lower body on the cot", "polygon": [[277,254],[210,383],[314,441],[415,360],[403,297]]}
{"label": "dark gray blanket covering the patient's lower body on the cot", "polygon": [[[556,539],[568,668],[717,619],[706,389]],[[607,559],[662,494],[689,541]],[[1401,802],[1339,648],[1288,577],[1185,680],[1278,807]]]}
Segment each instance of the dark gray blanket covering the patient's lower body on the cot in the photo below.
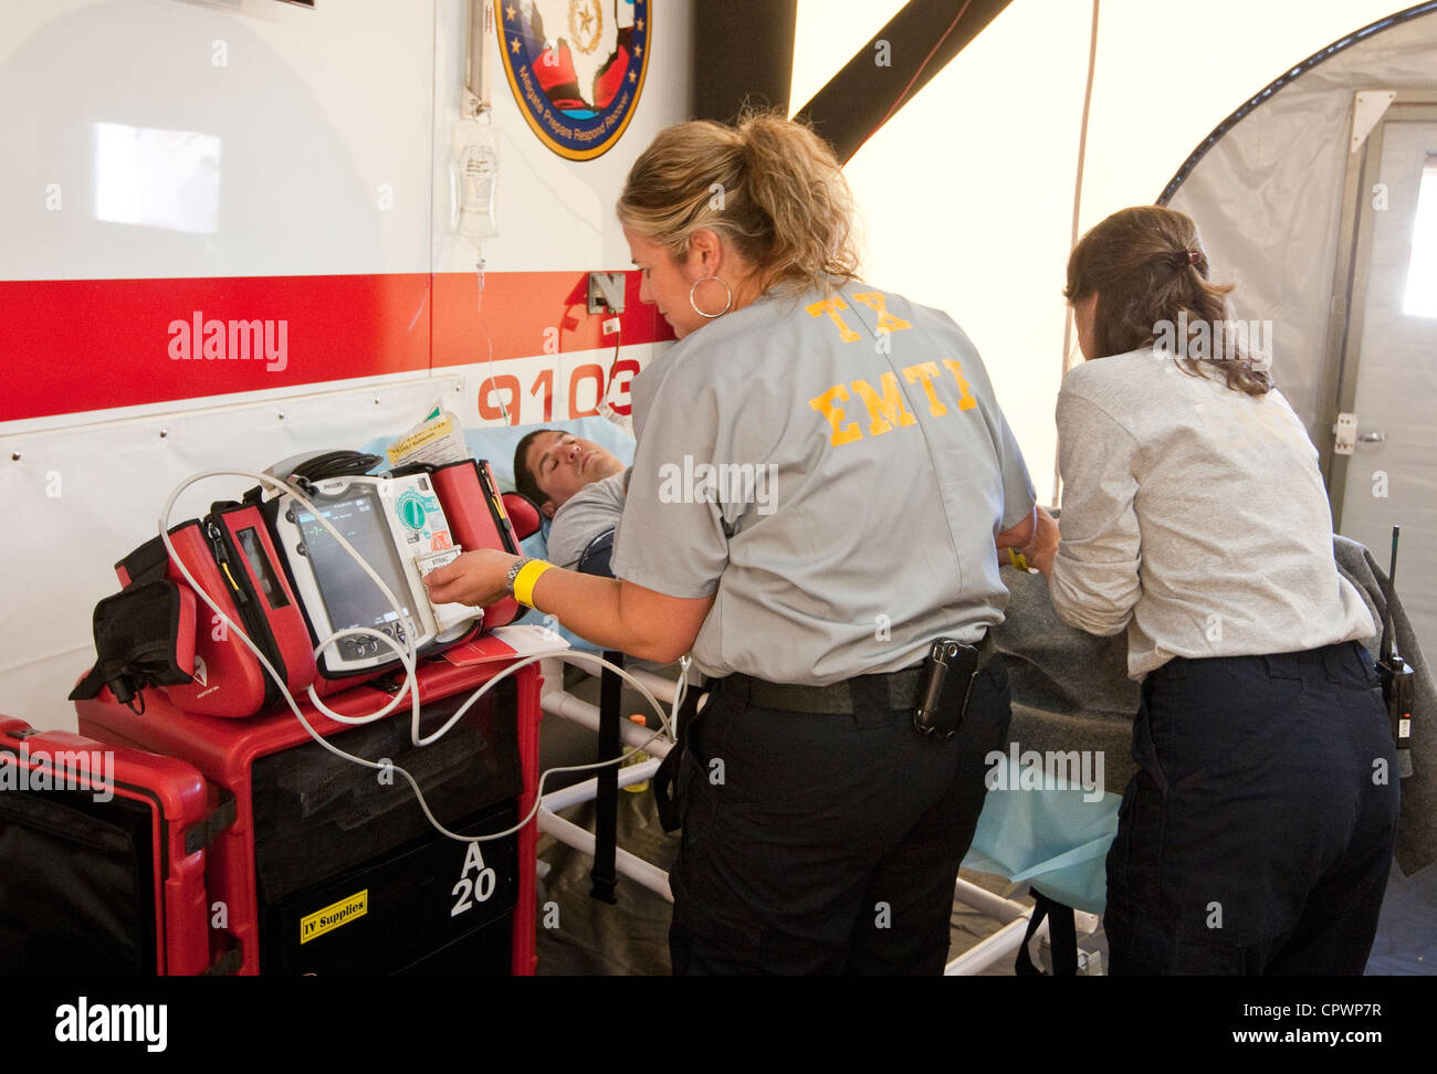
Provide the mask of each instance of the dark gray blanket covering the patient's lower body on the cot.
{"label": "dark gray blanket covering the patient's lower body on the cot", "polygon": [[[1387,576],[1357,541],[1334,536],[1338,570],[1362,593],[1372,619],[1385,609]],[[1012,593],[1007,622],[993,636],[1007,663],[1013,688],[1013,742],[1020,750],[1101,750],[1106,790],[1121,794],[1137,771],[1132,761],[1132,716],[1138,683],[1128,679],[1125,635],[1095,638],[1063,623],[1048,599],[1042,574],[1003,571]],[[1413,775],[1403,780],[1403,813],[1397,827],[1397,863],[1404,873],[1437,860],[1437,696],[1427,660],[1417,648],[1401,599],[1392,599],[1397,648],[1417,673],[1413,706]],[[1377,656],[1380,638],[1365,643]],[[1295,747],[1299,744],[1295,744]],[[1395,778],[1395,772],[1392,774]]]}

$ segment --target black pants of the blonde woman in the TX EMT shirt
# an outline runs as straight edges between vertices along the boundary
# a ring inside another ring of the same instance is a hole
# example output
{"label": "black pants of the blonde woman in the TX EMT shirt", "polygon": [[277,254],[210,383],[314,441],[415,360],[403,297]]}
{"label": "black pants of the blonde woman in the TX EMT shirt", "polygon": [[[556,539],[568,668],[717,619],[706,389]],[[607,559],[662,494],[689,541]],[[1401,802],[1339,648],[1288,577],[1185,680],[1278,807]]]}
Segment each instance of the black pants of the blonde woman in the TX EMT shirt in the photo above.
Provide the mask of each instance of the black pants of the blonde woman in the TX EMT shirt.
{"label": "black pants of the blonde woman in the TX EMT shirt", "polygon": [[680,775],[675,973],[940,973],[958,863],[1003,750],[1007,672],[979,672],[950,739],[912,709],[760,708],[721,685]]}

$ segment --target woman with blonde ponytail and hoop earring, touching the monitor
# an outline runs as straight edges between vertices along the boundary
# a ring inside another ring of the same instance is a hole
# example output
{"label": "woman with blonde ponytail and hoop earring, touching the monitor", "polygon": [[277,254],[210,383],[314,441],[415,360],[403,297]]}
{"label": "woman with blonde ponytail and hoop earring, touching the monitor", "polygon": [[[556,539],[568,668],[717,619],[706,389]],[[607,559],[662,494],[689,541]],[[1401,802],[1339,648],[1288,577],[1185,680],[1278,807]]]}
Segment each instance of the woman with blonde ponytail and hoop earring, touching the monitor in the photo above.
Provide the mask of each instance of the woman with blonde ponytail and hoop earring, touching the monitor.
{"label": "woman with blonde ponytail and hoop earring, touching the monitor", "polygon": [[[1010,715],[994,543],[1033,528],[983,363],[943,313],[858,283],[842,169],[787,119],[661,132],[618,213],[680,343],[634,382],[616,579],[519,566],[514,592],[720,679],[685,732],[674,969],[940,972]],[[467,554],[431,594],[487,603],[512,564]],[[980,668],[957,732],[924,735],[944,636]]]}

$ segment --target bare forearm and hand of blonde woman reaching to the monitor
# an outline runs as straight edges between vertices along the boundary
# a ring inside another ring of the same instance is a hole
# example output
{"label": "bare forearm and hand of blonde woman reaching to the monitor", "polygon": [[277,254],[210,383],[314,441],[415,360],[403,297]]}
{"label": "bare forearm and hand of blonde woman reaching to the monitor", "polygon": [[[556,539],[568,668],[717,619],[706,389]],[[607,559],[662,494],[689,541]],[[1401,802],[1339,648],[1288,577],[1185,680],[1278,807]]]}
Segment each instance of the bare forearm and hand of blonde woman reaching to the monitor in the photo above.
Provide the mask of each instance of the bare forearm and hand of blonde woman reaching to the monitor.
{"label": "bare forearm and hand of blonde woman reaching to the monitor", "polygon": [[[519,559],[483,548],[466,551],[430,571],[424,584],[438,603],[491,604],[509,596],[509,567]],[[687,653],[703,626],[713,596],[671,597],[632,582],[552,567],[535,584],[535,607],[565,629],[605,649],[641,660],[671,663]]]}

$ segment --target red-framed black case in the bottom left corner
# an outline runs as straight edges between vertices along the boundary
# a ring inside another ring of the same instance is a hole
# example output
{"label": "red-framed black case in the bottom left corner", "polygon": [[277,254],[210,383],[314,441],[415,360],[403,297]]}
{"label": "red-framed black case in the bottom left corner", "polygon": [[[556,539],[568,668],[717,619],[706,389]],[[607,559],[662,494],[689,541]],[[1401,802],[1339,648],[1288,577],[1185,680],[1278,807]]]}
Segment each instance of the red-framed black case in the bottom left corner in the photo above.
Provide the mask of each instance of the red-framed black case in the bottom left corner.
{"label": "red-framed black case in the bottom left corner", "polygon": [[0,765],[0,975],[237,968],[208,929],[194,765],[6,716]]}

